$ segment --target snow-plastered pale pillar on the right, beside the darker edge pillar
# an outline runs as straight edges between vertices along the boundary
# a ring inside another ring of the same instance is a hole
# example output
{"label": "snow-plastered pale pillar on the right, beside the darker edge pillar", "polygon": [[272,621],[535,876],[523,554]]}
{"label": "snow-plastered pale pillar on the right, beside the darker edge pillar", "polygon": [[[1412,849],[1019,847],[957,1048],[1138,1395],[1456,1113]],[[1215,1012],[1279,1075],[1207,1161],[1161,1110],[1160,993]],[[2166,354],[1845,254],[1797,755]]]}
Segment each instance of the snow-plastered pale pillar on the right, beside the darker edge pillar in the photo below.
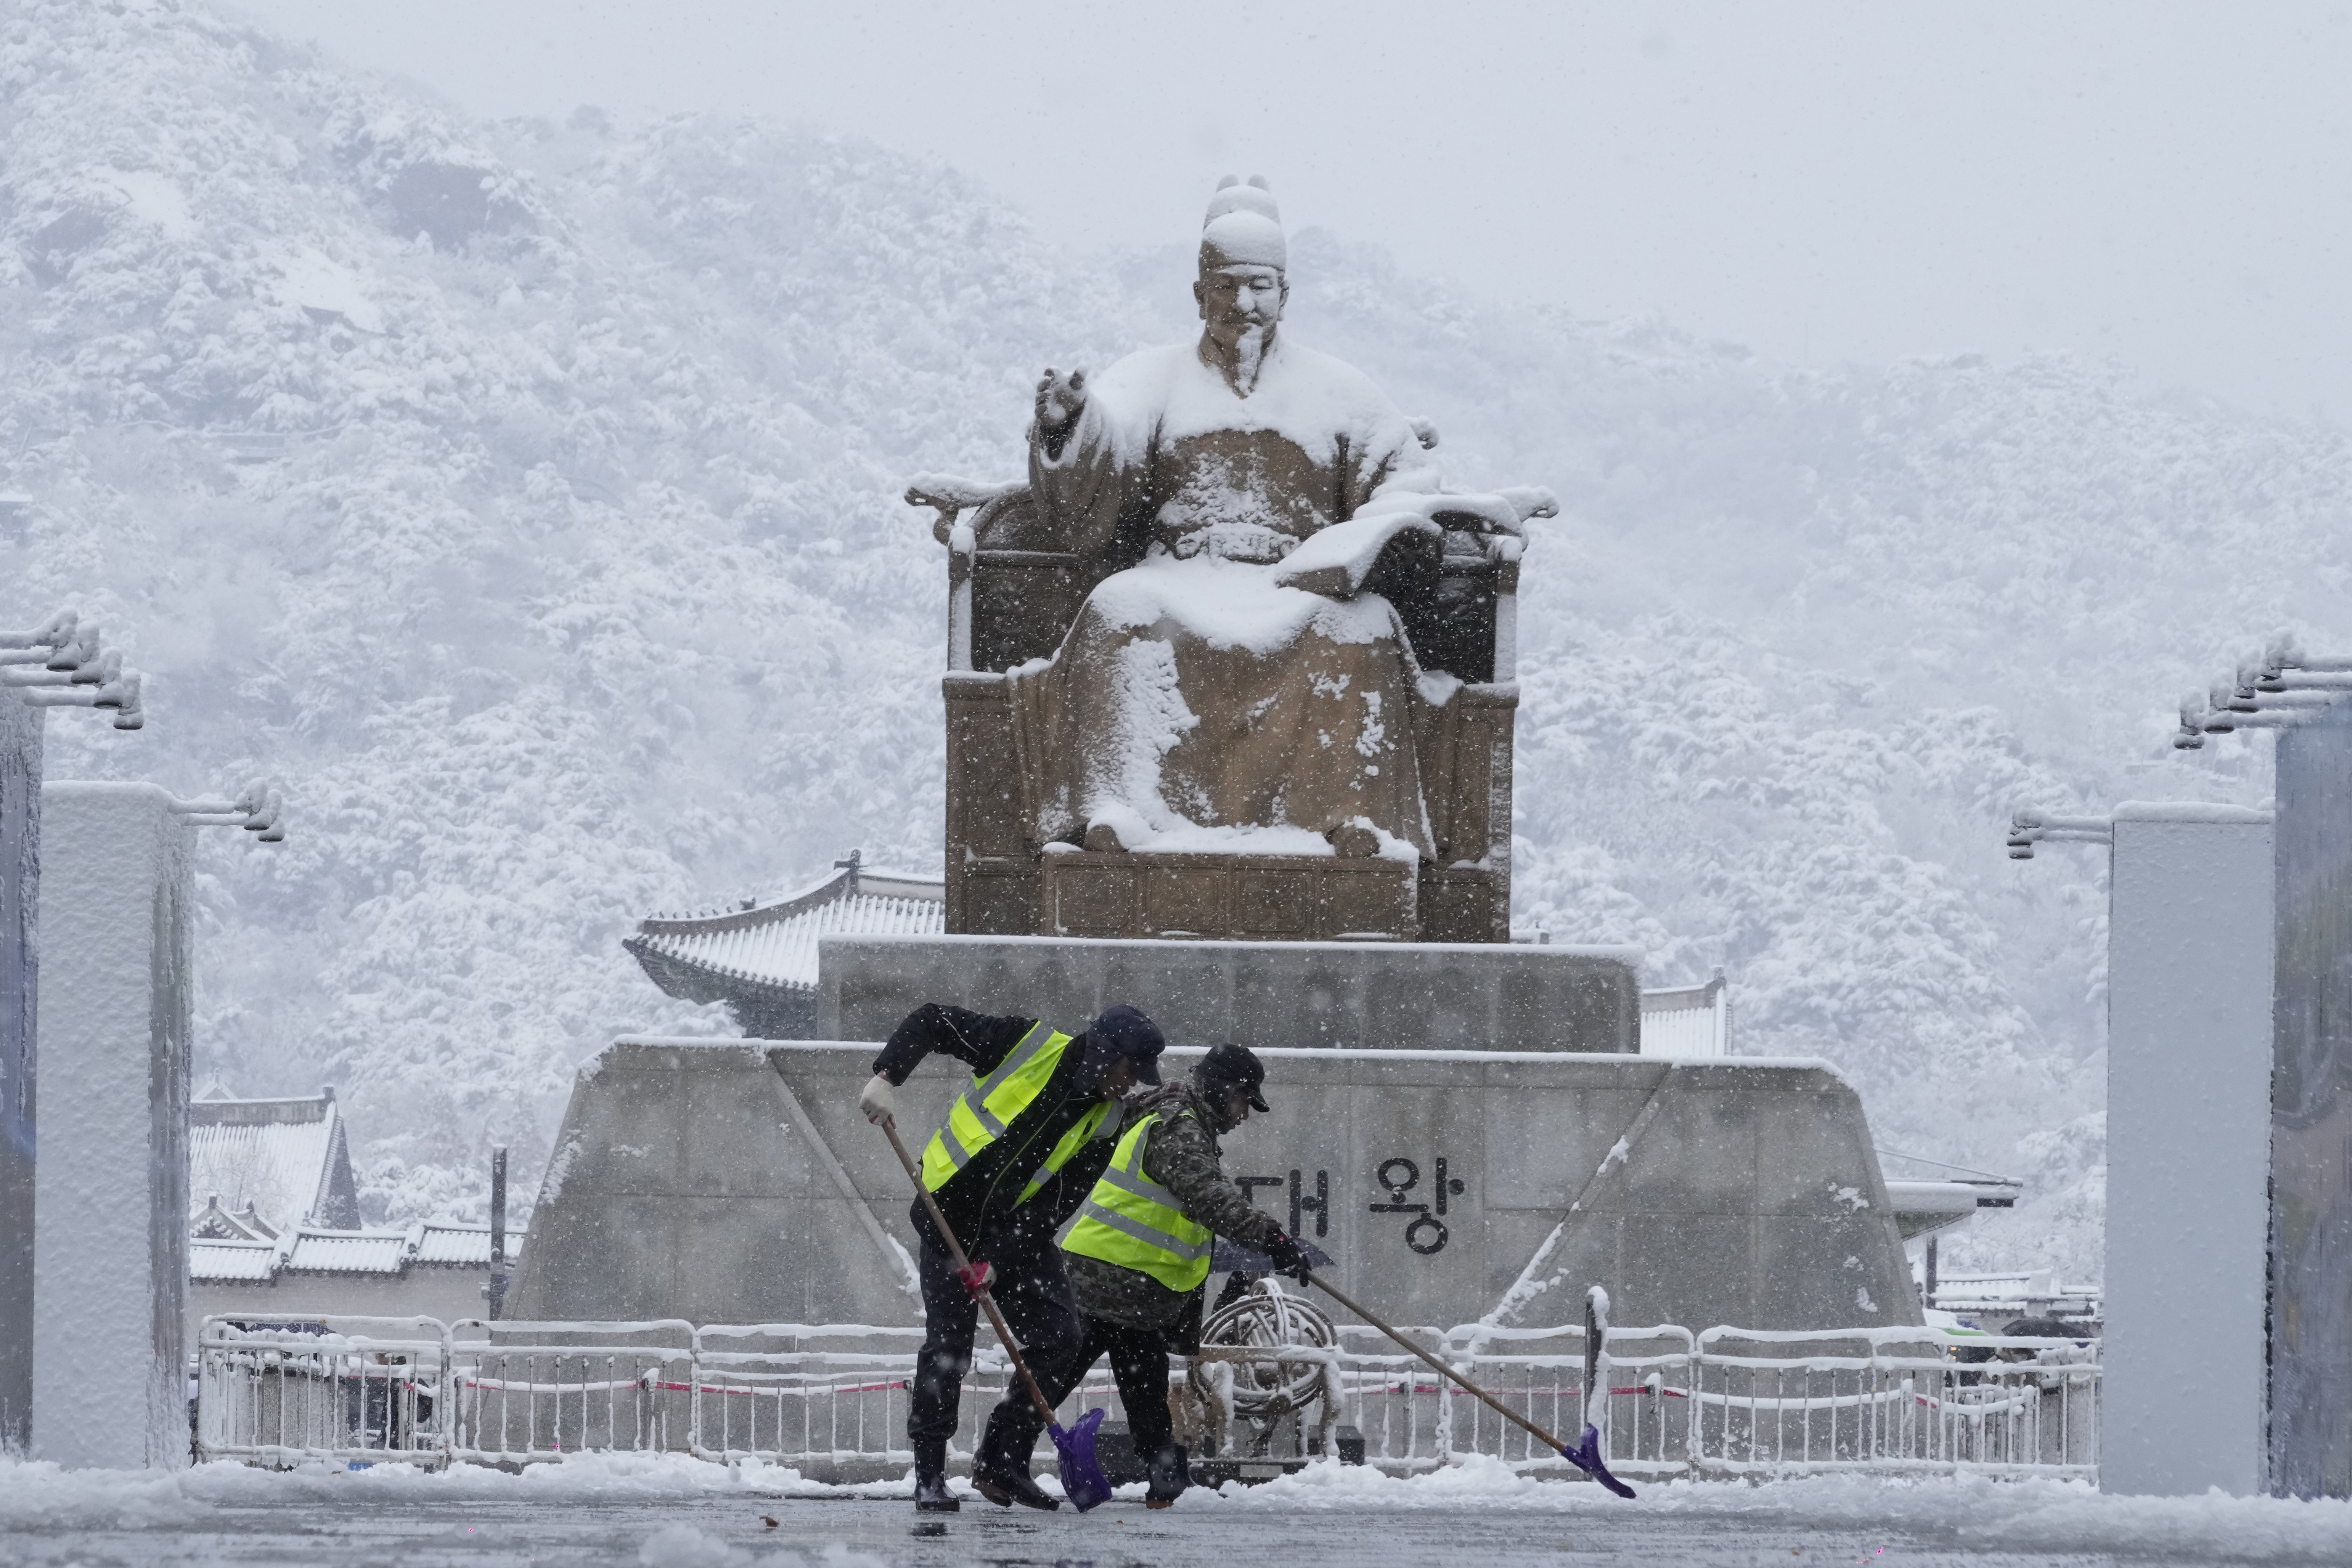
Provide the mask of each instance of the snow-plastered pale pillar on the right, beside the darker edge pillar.
{"label": "snow-plastered pale pillar on the right, beside the darker edge pillar", "polygon": [[2100,1486],[2263,1490],[2270,818],[2114,813]]}

